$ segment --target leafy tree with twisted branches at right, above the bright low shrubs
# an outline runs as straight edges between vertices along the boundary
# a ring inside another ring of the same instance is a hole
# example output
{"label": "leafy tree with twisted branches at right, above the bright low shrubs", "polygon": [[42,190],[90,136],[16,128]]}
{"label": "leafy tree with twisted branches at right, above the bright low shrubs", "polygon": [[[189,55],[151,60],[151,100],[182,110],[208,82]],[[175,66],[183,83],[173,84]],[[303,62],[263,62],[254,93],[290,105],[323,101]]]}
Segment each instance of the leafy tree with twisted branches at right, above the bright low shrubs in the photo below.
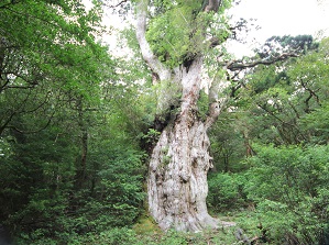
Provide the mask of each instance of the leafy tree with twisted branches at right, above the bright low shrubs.
{"label": "leafy tree with twisted branches at right, above the bright low shrubs", "polygon": [[245,110],[244,121],[251,121],[250,137],[276,145],[316,143],[317,136],[323,141],[311,125],[318,122],[312,113],[326,111],[326,46],[323,40],[317,51],[270,67],[259,66],[245,76],[237,107]]}

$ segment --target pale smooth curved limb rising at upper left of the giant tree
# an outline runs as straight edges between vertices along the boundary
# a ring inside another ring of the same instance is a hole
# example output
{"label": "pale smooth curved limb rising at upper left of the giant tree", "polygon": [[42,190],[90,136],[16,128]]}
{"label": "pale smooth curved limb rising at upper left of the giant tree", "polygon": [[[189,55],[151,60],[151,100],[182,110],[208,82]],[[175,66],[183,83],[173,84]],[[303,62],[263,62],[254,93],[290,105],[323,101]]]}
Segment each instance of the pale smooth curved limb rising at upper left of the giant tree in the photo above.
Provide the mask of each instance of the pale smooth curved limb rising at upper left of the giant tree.
{"label": "pale smooth curved limb rising at upper left of the giant tree", "polygon": [[165,67],[153,54],[149,42],[146,41],[146,15],[149,0],[140,0],[136,4],[136,37],[142,52],[143,59],[146,62],[153,73],[158,75],[161,80],[171,78],[171,70]]}

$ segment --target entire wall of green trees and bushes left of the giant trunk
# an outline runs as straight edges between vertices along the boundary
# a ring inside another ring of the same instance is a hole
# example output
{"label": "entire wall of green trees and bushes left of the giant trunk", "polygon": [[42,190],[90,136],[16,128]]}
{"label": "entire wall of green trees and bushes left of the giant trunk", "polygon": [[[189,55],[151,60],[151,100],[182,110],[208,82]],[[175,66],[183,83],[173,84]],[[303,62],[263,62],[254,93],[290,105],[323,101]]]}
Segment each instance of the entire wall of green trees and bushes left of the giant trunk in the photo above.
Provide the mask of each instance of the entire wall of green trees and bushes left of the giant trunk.
{"label": "entire wall of green trees and bushes left of the giant trunk", "polygon": [[7,1],[0,15],[1,224],[22,244],[131,224],[144,156],[120,112],[133,97],[96,42],[100,5]]}

